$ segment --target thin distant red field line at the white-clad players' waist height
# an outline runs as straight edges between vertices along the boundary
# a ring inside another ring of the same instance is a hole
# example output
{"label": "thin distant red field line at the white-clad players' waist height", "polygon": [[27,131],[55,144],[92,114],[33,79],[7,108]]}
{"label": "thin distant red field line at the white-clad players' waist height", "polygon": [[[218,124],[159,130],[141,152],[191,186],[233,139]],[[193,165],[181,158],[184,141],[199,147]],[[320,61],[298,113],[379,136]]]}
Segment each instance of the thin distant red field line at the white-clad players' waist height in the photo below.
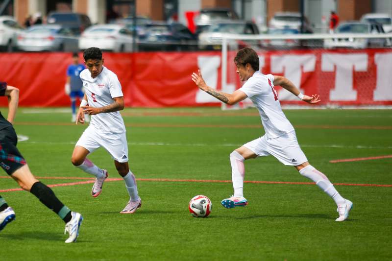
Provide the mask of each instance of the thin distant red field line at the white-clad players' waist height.
{"label": "thin distant red field line at the white-clad players' waist height", "polygon": [[[72,122],[15,122],[16,125],[39,126],[72,126]],[[262,128],[261,124],[172,124],[172,123],[126,123],[126,127],[154,127],[154,128]],[[354,129],[354,130],[391,130],[392,126],[341,126],[341,125],[295,125],[299,129]]]}

